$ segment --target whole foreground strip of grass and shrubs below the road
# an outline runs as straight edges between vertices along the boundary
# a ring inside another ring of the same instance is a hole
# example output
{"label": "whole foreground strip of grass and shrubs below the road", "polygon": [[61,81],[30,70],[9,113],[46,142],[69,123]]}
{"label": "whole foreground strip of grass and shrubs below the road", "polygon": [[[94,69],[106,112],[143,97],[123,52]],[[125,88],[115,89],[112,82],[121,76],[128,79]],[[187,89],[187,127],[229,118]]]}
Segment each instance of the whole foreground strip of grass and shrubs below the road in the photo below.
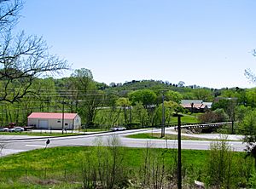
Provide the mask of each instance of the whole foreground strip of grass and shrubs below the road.
{"label": "whole foreground strip of grass and shrubs below the road", "polygon": [[[96,141],[99,145],[101,140]],[[175,188],[177,150],[108,146],[56,147],[0,158],[0,185],[6,188]],[[183,187],[194,180],[210,188],[253,187],[253,159],[232,152],[224,141],[211,151],[183,150]],[[218,187],[219,186],[219,187]]]}

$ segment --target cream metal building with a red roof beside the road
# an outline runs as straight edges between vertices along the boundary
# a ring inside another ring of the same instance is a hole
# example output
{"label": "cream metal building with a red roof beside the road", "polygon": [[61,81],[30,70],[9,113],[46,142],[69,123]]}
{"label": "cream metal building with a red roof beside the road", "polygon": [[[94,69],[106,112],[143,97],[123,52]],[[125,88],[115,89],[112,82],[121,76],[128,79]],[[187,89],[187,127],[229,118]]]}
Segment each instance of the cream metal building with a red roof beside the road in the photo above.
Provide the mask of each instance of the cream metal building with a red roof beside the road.
{"label": "cream metal building with a red roof beside the road", "polygon": [[32,112],[27,117],[27,125],[36,129],[79,129],[81,117],[77,113]]}

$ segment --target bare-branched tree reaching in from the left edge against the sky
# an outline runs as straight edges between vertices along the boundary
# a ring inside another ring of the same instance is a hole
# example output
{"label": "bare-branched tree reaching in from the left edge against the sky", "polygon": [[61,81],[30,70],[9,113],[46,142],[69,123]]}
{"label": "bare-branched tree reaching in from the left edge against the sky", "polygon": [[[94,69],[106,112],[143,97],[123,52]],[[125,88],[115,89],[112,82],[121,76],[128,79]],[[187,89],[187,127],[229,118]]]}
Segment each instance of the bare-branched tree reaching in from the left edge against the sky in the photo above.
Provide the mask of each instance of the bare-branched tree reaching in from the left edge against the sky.
{"label": "bare-branched tree reaching in from the left edge against the sky", "polygon": [[13,34],[22,6],[20,0],[0,1],[0,101],[11,103],[34,94],[31,86],[37,77],[61,74],[69,67],[67,60],[49,54],[42,37]]}

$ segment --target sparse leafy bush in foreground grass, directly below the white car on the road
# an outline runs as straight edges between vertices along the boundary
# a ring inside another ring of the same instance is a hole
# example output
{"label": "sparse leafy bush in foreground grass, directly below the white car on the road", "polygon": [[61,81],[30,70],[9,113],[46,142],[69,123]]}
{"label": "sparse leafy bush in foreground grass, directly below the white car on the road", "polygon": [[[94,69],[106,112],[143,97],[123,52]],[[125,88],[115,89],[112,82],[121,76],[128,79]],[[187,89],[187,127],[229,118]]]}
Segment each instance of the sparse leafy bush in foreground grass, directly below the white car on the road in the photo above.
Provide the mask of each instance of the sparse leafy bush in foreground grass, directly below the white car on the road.
{"label": "sparse leafy bush in foreground grass, directly below the white car on the road", "polygon": [[101,140],[96,140],[93,152],[81,155],[84,188],[125,188],[128,186],[128,171],[123,164],[124,150],[119,147],[117,136],[108,139],[108,146],[103,147]]}

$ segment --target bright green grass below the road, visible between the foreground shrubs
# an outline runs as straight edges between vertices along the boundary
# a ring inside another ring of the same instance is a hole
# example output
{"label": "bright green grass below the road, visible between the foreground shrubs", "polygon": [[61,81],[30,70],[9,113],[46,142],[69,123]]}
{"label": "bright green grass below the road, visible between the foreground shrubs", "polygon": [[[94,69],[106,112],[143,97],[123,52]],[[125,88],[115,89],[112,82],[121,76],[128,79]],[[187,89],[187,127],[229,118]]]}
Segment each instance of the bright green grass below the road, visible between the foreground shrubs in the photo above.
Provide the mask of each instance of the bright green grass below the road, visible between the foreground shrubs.
{"label": "bright green grass below the road, visible between the foreground shrubs", "polygon": [[[2,188],[79,188],[83,162],[95,150],[95,146],[55,147],[0,158],[0,185]],[[123,154],[124,168],[140,171],[147,149],[119,147],[119,150]],[[151,152],[164,155],[166,167],[177,163],[177,149],[152,148]],[[209,154],[209,151],[183,150],[183,166],[205,173]],[[236,159],[244,155],[245,152],[234,152]]]}

